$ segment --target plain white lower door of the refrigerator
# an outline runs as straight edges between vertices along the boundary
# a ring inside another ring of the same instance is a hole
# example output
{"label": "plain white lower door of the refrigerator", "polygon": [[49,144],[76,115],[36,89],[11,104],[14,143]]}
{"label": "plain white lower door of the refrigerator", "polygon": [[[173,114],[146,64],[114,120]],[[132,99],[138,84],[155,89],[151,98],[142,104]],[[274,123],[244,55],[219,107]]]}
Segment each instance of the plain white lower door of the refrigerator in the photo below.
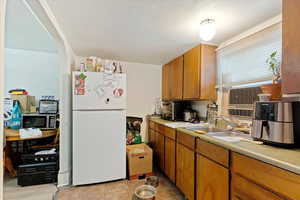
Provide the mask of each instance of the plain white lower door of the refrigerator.
{"label": "plain white lower door of the refrigerator", "polygon": [[73,185],[126,177],[126,111],[73,111]]}

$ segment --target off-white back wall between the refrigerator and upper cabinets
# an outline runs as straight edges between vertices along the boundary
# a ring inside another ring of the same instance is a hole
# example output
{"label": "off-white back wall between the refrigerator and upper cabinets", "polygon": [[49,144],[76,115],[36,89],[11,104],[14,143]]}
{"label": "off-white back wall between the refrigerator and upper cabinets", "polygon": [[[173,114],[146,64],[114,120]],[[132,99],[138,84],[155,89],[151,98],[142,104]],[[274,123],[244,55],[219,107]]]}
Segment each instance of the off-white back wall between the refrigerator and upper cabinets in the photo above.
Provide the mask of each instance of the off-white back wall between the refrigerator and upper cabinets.
{"label": "off-white back wall between the refrigerator and upper cabinets", "polygon": [[[77,57],[76,69],[83,57]],[[161,65],[121,62],[127,74],[127,116],[144,118],[142,136],[145,137],[145,116],[154,113],[154,104],[161,98]]]}

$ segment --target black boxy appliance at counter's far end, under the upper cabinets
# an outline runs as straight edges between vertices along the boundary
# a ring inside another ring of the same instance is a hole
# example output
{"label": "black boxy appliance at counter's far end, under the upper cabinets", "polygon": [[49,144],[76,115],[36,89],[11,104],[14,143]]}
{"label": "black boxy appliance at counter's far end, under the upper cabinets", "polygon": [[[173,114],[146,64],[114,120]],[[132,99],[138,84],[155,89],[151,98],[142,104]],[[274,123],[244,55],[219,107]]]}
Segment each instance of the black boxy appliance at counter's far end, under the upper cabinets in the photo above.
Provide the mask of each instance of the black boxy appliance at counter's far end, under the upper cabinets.
{"label": "black boxy appliance at counter's far end, under the upper cabinets", "polygon": [[183,101],[163,102],[161,118],[170,121],[183,121],[183,113],[187,103]]}

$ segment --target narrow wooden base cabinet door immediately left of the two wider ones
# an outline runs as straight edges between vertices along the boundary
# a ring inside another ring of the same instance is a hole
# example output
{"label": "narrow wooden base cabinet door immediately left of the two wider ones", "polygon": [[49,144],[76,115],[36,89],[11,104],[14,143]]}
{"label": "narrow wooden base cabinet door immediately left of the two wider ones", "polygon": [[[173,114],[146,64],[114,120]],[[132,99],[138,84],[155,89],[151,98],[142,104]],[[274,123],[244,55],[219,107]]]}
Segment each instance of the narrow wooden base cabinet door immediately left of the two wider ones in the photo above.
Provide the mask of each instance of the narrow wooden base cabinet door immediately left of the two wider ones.
{"label": "narrow wooden base cabinet door immediately left of the two wider ones", "polygon": [[175,183],[176,143],[165,137],[165,174]]}

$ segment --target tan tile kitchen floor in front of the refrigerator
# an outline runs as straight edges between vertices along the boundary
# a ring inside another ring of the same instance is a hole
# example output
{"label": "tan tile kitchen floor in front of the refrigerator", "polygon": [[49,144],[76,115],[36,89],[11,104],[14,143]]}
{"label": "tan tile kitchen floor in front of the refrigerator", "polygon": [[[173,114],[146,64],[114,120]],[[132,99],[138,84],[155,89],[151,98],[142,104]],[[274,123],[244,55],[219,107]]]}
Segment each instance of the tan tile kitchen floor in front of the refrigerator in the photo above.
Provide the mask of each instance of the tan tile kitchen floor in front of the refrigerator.
{"label": "tan tile kitchen floor in front of the refrigerator", "polygon": [[[160,182],[155,200],[184,200],[184,196],[165,177]],[[121,180],[88,186],[60,188],[55,200],[131,200],[134,190],[145,180]]]}

